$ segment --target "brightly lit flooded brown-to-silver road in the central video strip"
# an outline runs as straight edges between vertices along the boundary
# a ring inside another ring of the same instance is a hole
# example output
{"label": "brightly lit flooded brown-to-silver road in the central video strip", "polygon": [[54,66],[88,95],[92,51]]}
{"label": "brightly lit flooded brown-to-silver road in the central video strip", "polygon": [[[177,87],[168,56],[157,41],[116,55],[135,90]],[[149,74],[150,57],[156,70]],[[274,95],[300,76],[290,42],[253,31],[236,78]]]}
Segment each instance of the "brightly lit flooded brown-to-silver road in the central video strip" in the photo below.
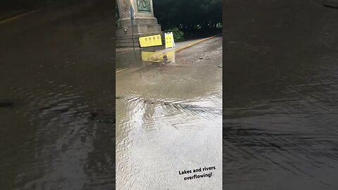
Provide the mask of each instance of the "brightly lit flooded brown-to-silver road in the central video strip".
{"label": "brightly lit flooded brown-to-silver road in the central video strip", "polygon": [[[161,62],[118,56],[134,64],[116,73],[116,189],[222,189],[222,37]],[[215,170],[179,174],[200,167]]]}

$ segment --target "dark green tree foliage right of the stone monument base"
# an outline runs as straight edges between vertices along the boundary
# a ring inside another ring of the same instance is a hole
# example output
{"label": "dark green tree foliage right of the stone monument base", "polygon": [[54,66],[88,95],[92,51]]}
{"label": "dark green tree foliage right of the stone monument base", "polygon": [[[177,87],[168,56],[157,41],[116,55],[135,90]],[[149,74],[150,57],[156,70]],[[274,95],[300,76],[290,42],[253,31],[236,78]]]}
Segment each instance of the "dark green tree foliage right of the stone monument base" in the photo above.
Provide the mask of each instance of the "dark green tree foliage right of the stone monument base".
{"label": "dark green tree foliage right of the stone monument base", "polygon": [[193,32],[222,23],[222,0],[154,0],[154,14],[163,29]]}

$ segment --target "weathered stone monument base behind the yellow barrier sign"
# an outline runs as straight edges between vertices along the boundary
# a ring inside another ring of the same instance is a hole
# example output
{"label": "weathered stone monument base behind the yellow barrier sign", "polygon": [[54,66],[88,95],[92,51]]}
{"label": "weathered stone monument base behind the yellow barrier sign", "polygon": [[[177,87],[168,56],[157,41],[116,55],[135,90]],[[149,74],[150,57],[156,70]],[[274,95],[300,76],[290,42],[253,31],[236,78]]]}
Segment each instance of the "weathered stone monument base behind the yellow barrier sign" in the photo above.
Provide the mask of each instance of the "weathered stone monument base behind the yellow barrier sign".
{"label": "weathered stone monument base behind the yellow barrier sign", "polygon": [[[161,1],[161,0],[159,0]],[[120,19],[116,27],[116,46],[132,46],[132,24],[130,5],[134,8],[134,42],[139,46],[138,38],[152,34],[162,34],[161,25],[154,17],[152,0],[117,0]]]}

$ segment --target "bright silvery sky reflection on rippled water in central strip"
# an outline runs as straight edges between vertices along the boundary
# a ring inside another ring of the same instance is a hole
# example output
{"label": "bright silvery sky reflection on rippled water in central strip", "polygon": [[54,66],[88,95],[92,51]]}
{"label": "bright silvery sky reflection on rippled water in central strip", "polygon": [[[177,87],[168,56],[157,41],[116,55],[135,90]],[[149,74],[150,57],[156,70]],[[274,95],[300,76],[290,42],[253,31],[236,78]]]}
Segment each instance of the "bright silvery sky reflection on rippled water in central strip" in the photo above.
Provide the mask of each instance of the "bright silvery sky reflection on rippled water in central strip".
{"label": "bright silvery sky reflection on rippled water in central strip", "polygon": [[155,101],[138,96],[118,102],[118,108],[125,107],[117,115],[118,189],[125,189],[125,184],[131,189],[189,189],[192,184],[206,186],[202,183],[215,183],[211,186],[219,189],[219,175],[189,183],[177,175],[179,170],[209,165],[220,170],[221,163],[215,162],[220,156],[220,138],[215,134],[222,118],[219,102],[209,97]]}

